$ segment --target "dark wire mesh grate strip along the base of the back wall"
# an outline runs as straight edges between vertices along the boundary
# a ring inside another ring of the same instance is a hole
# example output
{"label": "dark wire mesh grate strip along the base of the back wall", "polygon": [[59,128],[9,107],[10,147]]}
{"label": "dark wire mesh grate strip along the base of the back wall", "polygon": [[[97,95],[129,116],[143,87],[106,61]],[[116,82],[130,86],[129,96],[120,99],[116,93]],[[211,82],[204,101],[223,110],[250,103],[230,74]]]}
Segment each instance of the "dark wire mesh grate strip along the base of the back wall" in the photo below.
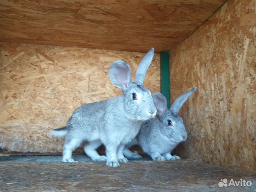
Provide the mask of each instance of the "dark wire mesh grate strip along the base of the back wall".
{"label": "dark wire mesh grate strip along the base of the back wall", "polygon": [[[75,161],[94,161],[87,155],[73,154]],[[39,162],[59,162],[62,156],[40,156],[40,155],[17,155],[17,156],[0,156],[0,162],[4,161],[39,161]],[[127,158],[129,161],[151,161],[149,156],[142,158]]]}

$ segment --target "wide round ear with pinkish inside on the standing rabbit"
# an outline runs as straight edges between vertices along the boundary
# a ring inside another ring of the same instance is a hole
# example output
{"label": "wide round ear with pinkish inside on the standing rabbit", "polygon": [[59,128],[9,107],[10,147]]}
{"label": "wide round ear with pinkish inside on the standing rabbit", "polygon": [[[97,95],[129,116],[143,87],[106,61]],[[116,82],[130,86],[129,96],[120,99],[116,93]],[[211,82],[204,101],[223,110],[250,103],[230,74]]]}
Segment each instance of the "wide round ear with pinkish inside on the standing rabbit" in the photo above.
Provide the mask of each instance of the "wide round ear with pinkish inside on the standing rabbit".
{"label": "wide round ear with pinkish inside on the standing rabbit", "polygon": [[121,60],[115,61],[109,68],[109,76],[114,86],[126,91],[132,83],[130,66]]}

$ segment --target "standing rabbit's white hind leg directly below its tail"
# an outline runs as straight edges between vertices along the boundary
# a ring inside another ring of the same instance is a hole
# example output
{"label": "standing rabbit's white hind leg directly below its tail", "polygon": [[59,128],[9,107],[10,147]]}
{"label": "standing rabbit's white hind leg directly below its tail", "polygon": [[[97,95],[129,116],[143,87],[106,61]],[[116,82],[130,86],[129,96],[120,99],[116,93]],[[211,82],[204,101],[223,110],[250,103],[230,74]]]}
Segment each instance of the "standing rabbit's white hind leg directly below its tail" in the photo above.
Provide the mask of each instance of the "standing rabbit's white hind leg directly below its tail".
{"label": "standing rabbit's white hind leg directly below its tail", "polygon": [[62,162],[74,162],[72,159],[72,151],[81,144],[80,139],[65,140],[62,152]]}

